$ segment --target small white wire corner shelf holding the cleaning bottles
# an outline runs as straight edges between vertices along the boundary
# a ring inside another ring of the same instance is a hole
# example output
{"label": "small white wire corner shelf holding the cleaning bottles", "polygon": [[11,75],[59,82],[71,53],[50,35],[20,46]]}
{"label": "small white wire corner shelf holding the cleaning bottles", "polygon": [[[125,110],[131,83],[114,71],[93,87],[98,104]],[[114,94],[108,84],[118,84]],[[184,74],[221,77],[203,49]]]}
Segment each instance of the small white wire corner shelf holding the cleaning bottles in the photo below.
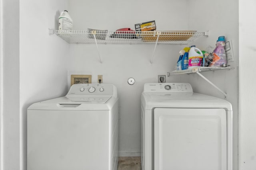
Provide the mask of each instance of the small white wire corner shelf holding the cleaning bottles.
{"label": "small white wire corner shelf holding the cleaning bottles", "polygon": [[226,70],[233,69],[231,67],[194,67],[186,70],[174,70],[172,72],[168,72],[167,75],[176,75],[176,74],[190,74],[195,72],[206,72],[206,71],[214,71],[214,70]]}

